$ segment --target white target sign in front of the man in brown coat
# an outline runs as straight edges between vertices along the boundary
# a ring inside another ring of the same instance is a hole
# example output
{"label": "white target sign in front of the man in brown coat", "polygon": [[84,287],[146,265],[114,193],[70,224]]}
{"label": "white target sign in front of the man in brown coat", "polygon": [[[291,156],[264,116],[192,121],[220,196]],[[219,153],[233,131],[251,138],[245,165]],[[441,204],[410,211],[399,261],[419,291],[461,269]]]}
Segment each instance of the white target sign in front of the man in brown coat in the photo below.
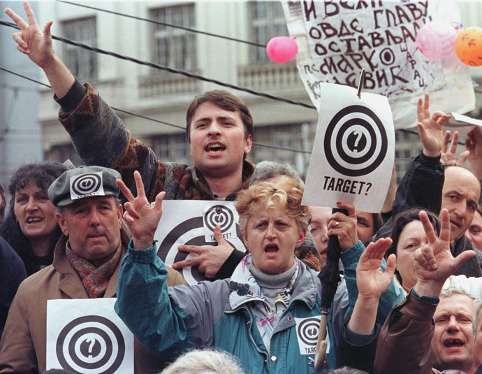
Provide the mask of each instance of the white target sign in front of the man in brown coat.
{"label": "white target sign in front of the man in brown coat", "polygon": [[116,299],[47,301],[47,369],[81,374],[134,372],[134,337]]}

